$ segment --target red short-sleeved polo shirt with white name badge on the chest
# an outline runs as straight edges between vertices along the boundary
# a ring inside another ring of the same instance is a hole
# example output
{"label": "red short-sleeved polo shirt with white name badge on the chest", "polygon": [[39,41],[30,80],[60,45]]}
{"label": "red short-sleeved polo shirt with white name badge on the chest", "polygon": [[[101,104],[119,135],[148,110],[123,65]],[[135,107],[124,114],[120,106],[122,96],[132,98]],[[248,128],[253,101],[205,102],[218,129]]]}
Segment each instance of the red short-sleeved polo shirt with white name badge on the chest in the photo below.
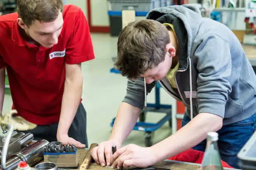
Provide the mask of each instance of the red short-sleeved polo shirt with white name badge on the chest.
{"label": "red short-sleeved polo shirt with white name badge on the chest", "polygon": [[7,68],[13,108],[37,125],[57,123],[65,64],[94,59],[85,15],[75,5],[64,5],[63,29],[58,44],[51,48],[28,44],[22,39],[17,18],[17,13],[0,17],[0,68]]}

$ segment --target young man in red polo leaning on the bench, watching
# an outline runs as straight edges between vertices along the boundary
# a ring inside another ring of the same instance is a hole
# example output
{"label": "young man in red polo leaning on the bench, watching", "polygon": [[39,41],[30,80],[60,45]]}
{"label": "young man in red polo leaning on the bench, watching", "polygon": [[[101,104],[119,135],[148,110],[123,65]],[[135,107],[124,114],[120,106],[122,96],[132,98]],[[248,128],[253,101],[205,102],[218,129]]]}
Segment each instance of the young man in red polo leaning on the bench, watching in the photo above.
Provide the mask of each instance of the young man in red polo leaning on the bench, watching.
{"label": "young man in red polo leaning on the bench, watching", "polygon": [[17,0],[0,17],[0,109],[5,68],[13,109],[36,123],[35,139],[87,145],[81,63],[94,59],[82,10],[62,0]]}

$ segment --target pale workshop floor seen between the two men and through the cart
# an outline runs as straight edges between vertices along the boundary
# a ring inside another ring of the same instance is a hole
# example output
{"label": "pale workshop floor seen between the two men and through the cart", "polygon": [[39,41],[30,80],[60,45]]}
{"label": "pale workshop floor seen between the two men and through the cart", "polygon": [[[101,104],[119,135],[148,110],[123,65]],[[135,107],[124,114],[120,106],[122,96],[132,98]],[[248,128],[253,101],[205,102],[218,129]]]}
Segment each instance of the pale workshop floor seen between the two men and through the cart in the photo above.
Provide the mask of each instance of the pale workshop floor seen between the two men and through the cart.
{"label": "pale workshop floor seen between the two men and through the cart", "polygon": [[[100,143],[109,138],[111,120],[116,116],[119,104],[126,94],[126,78],[119,74],[110,73],[113,67],[112,57],[116,56],[117,38],[109,34],[92,34],[96,59],[82,64],[84,86],[82,103],[87,111],[87,135],[89,145]],[[148,102],[155,101],[154,90],[148,95]],[[162,104],[175,104],[175,100],[161,89]],[[5,95],[3,112],[10,111],[12,99]],[[176,110],[176,107],[174,108]],[[148,113],[146,122],[157,122],[162,113]],[[171,135],[169,123],[165,123],[155,131],[152,142],[156,143]],[[144,132],[133,131],[123,143],[144,145]]]}

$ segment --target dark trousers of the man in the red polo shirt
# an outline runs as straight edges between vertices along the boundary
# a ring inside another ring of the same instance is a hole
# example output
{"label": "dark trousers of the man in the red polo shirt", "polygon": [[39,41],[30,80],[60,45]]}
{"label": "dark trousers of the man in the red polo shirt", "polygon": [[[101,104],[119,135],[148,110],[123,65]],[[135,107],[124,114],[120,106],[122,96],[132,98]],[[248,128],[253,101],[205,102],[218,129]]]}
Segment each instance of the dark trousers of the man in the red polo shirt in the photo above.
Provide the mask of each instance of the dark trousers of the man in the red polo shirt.
{"label": "dark trousers of the man in the red polo shirt", "polygon": [[[58,123],[51,125],[37,125],[35,129],[23,131],[24,133],[32,133],[34,140],[46,139],[48,142],[57,141]],[[88,147],[87,133],[86,133],[86,111],[82,103],[78,106],[75,118],[68,130],[68,136],[75,140],[86,144]]]}

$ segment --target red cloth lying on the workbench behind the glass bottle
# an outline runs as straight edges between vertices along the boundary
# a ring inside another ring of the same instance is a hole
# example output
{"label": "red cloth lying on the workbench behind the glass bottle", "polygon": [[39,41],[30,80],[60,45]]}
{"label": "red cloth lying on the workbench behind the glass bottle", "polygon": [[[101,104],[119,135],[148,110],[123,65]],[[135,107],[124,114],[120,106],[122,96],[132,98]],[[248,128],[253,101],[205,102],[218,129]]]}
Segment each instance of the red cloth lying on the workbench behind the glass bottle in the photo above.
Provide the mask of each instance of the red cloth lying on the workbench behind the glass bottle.
{"label": "red cloth lying on the workbench behind the glass bottle", "polygon": [[[176,156],[172,156],[171,158],[168,158],[169,160],[174,161],[183,161],[183,162],[190,162],[190,163],[199,163],[201,164],[203,161],[204,152],[203,151],[197,151],[195,149],[188,149]],[[221,161],[222,166],[225,168],[233,168],[229,166],[226,162]]]}

